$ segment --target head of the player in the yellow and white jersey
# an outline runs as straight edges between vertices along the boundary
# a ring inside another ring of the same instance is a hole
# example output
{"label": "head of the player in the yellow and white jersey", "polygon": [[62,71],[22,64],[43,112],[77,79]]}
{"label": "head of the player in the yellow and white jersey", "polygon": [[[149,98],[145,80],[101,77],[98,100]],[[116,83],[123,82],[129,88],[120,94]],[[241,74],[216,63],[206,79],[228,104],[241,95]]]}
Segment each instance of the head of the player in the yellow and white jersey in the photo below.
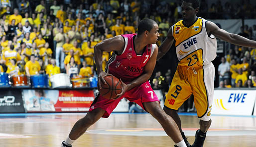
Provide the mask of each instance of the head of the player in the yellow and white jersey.
{"label": "head of the player in the yellow and white jersey", "polygon": [[195,17],[197,12],[198,12],[198,9],[193,8],[191,2],[182,2],[181,13],[182,13],[182,18],[184,20]]}

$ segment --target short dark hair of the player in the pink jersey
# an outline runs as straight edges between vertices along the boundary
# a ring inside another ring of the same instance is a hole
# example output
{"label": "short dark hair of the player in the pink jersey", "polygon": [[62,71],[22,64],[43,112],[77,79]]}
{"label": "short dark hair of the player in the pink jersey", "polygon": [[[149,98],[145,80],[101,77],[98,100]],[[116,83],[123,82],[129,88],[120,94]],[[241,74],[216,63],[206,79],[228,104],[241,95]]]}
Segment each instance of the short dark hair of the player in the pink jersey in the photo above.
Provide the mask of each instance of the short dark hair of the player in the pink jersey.
{"label": "short dark hair of the player in the pink jersey", "polygon": [[149,31],[154,27],[153,24],[157,24],[154,20],[145,18],[138,24],[138,35],[141,35],[144,31]]}

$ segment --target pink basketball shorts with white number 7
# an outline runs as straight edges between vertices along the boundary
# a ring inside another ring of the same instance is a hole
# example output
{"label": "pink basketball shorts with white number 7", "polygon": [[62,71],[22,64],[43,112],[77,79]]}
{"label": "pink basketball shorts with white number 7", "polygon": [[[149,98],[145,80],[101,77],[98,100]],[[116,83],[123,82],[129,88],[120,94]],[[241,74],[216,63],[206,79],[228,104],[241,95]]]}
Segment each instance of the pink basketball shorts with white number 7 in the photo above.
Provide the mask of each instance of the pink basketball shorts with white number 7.
{"label": "pink basketball shorts with white number 7", "polygon": [[[156,94],[152,90],[149,82],[145,82],[137,87],[126,92],[121,98],[118,99],[106,99],[103,98],[100,94],[94,99],[92,105],[90,106],[89,111],[92,111],[96,108],[102,108],[106,110],[102,117],[108,118],[112,111],[117,107],[119,101],[122,98],[127,98],[129,101],[135,102],[140,105],[143,109],[143,102],[150,101],[159,101]],[[160,102],[160,101],[159,101]],[[145,109],[144,109],[145,110]]]}

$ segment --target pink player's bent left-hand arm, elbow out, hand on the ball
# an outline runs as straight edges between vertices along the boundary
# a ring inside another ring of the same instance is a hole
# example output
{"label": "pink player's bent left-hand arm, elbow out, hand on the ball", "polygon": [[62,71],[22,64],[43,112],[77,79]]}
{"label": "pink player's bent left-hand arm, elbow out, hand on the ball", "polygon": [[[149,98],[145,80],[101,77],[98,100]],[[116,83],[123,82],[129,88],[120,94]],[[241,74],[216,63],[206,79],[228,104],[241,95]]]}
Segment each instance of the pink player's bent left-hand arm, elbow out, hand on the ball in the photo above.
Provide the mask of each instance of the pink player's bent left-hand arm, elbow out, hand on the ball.
{"label": "pink player's bent left-hand arm, elbow out, hand on the ball", "polygon": [[98,87],[100,89],[101,89],[101,84],[100,84],[101,81],[103,81],[104,84],[107,84],[106,81],[104,80],[104,77],[108,75],[107,73],[103,72],[103,69],[102,69],[102,52],[117,51],[118,54],[121,54],[124,48],[125,48],[125,40],[121,35],[115,36],[110,39],[106,39],[94,47],[94,58],[95,58],[95,64],[96,64],[96,71],[98,74]]}

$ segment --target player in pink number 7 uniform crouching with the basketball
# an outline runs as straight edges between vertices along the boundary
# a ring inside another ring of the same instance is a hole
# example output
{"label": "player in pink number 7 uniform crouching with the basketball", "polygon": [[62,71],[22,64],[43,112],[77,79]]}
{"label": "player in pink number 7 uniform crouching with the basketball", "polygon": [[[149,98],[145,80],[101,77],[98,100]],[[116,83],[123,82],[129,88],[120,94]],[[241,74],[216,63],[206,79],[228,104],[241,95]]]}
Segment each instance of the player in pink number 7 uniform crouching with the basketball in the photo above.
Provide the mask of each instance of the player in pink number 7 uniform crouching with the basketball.
{"label": "player in pink number 7 uniform crouching with the basketball", "polygon": [[[98,95],[85,117],[76,122],[66,141],[61,147],[71,147],[85,131],[101,117],[109,117],[122,98],[134,101],[150,113],[162,125],[166,134],[176,143],[175,147],[187,147],[174,120],[160,106],[148,79],[156,63],[159,37],[158,25],[151,19],[143,19],[138,25],[138,34],[118,35],[104,40],[94,47],[95,62],[98,73],[98,88],[104,77],[114,75],[122,80],[123,89],[116,99],[106,99]],[[102,52],[113,51],[102,70]]]}

